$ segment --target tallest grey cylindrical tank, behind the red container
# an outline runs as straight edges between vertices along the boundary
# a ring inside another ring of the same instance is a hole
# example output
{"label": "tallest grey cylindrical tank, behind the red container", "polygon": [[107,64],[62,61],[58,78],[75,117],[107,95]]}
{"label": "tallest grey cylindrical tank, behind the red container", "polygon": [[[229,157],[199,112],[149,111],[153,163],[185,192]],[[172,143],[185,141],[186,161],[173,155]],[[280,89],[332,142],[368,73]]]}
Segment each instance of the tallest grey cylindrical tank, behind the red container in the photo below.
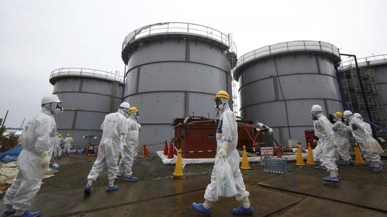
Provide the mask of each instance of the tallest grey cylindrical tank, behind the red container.
{"label": "tallest grey cylindrical tank, behind the red container", "polygon": [[[216,118],[214,94],[231,95],[228,49],[225,34],[187,23],[149,25],[125,38],[124,101],[140,110],[140,144],[169,141],[174,118]],[[150,146],[150,151],[162,147]]]}

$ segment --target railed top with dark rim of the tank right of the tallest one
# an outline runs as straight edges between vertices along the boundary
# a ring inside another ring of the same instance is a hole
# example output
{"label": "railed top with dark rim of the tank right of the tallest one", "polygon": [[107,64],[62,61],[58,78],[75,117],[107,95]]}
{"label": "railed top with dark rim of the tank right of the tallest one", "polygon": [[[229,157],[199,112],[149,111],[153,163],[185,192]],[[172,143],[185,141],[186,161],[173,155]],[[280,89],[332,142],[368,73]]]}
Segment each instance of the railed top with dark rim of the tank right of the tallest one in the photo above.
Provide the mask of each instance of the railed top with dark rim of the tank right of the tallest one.
{"label": "railed top with dark rim of the tank right of the tallest one", "polygon": [[234,78],[239,79],[242,69],[259,60],[287,54],[319,54],[340,62],[339,49],[322,41],[291,41],[258,48],[239,57],[234,68]]}

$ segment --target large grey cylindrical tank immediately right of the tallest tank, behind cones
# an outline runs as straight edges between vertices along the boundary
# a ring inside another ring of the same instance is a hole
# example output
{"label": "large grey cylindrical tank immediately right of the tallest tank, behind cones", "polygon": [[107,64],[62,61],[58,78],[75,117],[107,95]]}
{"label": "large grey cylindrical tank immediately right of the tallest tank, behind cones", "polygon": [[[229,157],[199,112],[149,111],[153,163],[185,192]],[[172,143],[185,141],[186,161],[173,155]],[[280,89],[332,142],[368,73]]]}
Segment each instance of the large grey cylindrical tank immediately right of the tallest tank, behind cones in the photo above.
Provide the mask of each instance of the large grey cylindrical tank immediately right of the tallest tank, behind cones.
{"label": "large grey cylindrical tank immediately right of the tallest tank, behind cones", "polygon": [[312,105],[321,105],[325,115],[343,110],[333,66],[340,61],[338,48],[319,41],[279,43],[241,56],[235,79],[242,117],[273,128],[281,145],[293,139],[306,147]]}

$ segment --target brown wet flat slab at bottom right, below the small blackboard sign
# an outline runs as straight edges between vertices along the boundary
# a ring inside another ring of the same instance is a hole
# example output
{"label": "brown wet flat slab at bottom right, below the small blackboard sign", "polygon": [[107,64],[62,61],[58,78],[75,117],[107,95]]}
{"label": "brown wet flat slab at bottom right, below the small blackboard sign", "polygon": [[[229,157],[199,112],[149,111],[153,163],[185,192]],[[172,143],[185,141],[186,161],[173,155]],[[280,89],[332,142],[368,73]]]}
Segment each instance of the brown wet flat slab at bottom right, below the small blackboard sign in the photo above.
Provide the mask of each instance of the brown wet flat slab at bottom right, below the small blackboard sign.
{"label": "brown wet flat slab at bottom right, below the small blackboard sign", "polygon": [[287,174],[259,183],[262,186],[322,197],[387,211],[387,187],[350,181],[327,182],[321,177]]}

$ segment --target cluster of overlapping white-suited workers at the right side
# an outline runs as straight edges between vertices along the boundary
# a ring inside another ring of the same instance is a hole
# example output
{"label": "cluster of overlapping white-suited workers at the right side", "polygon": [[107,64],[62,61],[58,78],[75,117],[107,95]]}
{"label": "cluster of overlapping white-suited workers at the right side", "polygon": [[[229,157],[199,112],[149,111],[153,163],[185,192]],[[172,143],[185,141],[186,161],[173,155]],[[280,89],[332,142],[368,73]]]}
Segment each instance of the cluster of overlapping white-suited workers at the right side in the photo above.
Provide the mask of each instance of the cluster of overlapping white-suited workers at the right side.
{"label": "cluster of overlapping white-suited workers at the right side", "polygon": [[336,155],[341,157],[342,166],[352,166],[351,156],[349,155],[349,143],[347,134],[352,133],[356,143],[359,144],[361,152],[367,162],[365,169],[379,172],[384,163],[380,161],[378,153],[370,150],[367,140],[371,137],[371,126],[363,121],[360,114],[353,114],[351,111],[344,113],[336,112],[333,119],[333,125],[326,116],[322,114],[320,105],[313,105],[311,108],[311,118],[313,120],[314,134],[318,138],[317,147],[313,150],[313,154],[317,156],[321,165],[316,166],[316,169],[327,169],[329,175],[322,178],[326,181],[340,180],[336,160],[339,160]]}

